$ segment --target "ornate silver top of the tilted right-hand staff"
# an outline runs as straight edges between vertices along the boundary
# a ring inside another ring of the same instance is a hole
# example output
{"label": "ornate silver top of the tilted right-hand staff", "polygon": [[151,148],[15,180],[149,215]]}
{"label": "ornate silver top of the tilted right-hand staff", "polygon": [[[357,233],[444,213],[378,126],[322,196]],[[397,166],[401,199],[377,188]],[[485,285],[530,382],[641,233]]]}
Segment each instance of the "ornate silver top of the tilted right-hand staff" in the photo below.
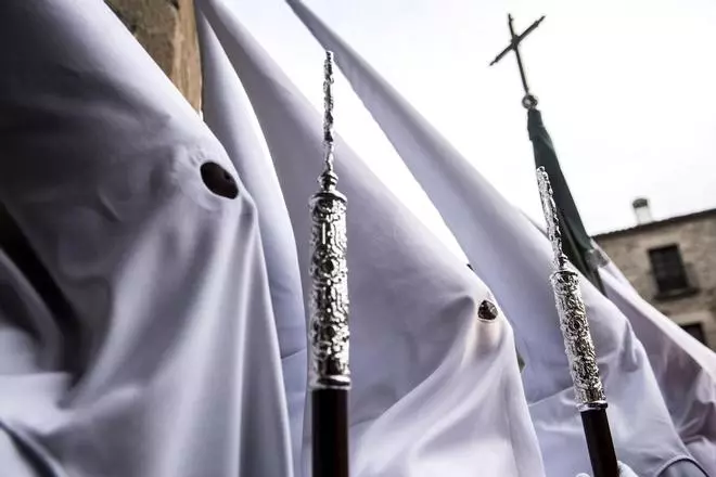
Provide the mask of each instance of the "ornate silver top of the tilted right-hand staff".
{"label": "ornate silver top of the tilted right-hand staff", "polygon": [[604,388],[599,377],[597,353],[589,333],[589,322],[581,292],[579,275],[570,270],[570,261],[562,250],[562,236],[558,227],[557,205],[552,197],[552,186],[544,167],[537,169],[537,183],[547,220],[547,234],[554,253],[554,269],[550,275],[554,300],[560,315],[560,328],[570,362],[570,373],[574,383],[579,411],[606,408]]}

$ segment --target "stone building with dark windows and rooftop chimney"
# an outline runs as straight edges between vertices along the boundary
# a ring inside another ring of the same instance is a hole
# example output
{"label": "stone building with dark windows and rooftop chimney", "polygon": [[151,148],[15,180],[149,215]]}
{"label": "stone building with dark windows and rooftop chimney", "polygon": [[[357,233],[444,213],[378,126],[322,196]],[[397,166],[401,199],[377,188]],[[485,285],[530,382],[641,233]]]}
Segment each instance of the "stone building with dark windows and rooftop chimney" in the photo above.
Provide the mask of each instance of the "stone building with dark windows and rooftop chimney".
{"label": "stone building with dark windows and rooftop chimney", "polygon": [[716,350],[716,209],[652,220],[635,201],[636,227],[594,236],[639,294]]}

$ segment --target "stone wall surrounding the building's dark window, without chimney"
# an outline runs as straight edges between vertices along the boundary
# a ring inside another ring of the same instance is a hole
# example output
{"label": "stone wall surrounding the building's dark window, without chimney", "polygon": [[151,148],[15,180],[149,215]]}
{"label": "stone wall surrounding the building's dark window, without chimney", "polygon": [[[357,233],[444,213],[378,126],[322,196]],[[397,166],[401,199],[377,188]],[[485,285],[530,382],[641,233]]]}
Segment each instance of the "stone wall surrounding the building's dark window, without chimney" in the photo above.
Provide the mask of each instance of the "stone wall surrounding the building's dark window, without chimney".
{"label": "stone wall surrounding the building's dark window, without chimney", "polygon": [[[708,345],[716,349],[716,210],[598,235],[594,240],[642,297],[679,324],[701,322]],[[656,299],[648,250],[672,244],[678,244],[698,292]]]}

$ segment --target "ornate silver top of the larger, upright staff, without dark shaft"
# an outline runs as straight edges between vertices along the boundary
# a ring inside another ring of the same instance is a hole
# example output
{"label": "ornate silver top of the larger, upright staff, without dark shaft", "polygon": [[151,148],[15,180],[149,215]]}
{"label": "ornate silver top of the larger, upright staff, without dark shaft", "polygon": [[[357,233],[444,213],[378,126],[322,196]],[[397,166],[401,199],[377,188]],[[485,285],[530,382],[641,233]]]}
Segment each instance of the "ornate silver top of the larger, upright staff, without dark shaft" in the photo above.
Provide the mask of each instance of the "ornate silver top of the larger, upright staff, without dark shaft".
{"label": "ornate silver top of the larger, upright staff, without dark shaft", "polygon": [[311,389],[350,387],[348,368],[348,267],[346,261],[346,197],[336,190],[333,170],[333,53],[324,63],[324,167],[320,190],[310,201],[311,257],[310,341]]}

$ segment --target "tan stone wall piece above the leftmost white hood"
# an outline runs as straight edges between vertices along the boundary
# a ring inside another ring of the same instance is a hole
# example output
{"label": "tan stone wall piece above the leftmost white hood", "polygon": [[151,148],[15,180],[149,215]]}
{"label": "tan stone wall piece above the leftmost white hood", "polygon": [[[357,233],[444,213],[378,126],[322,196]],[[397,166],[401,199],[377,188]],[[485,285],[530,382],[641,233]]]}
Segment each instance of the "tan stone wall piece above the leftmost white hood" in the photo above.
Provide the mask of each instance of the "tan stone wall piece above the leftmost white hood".
{"label": "tan stone wall piece above the leftmost white hood", "polygon": [[199,109],[201,65],[192,0],[105,0]]}

